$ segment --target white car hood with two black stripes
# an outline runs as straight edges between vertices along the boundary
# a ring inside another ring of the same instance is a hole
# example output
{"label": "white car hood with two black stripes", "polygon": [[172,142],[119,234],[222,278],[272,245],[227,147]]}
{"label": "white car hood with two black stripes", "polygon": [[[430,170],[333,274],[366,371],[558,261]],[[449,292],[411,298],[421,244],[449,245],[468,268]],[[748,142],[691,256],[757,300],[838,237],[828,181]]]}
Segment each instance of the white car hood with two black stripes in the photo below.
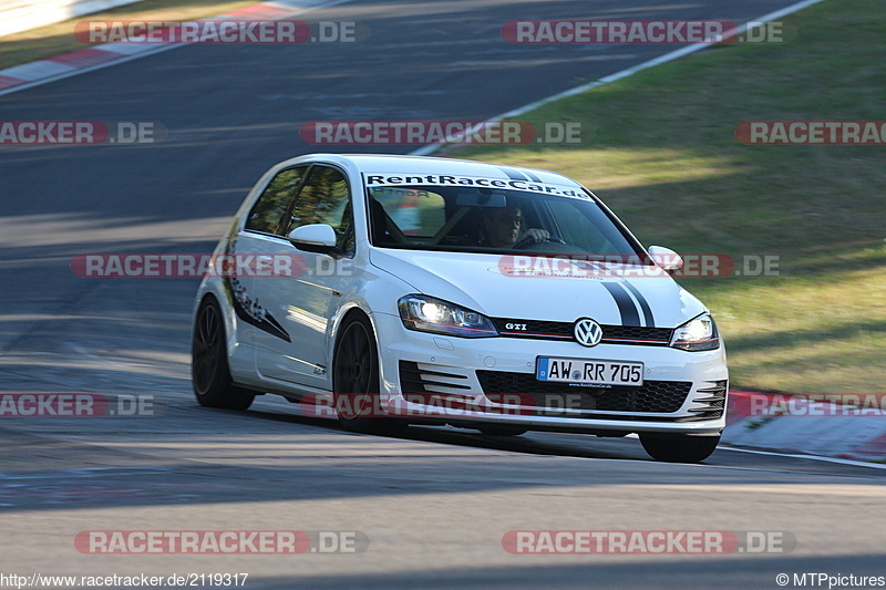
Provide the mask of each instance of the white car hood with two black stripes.
{"label": "white car hood with two black stripes", "polygon": [[[705,311],[669,276],[617,276],[606,271],[521,273],[513,258],[468,252],[372,249],[370,262],[411,284],[415,292],[451,301],[493,318],[676,328]],[[534,258],[544,267],[544,258]],[[538,266],[536,265],[536,270]],[[564,267],[559,267],[560,269]],[[624,273],[624,272],[622,272]]]}

